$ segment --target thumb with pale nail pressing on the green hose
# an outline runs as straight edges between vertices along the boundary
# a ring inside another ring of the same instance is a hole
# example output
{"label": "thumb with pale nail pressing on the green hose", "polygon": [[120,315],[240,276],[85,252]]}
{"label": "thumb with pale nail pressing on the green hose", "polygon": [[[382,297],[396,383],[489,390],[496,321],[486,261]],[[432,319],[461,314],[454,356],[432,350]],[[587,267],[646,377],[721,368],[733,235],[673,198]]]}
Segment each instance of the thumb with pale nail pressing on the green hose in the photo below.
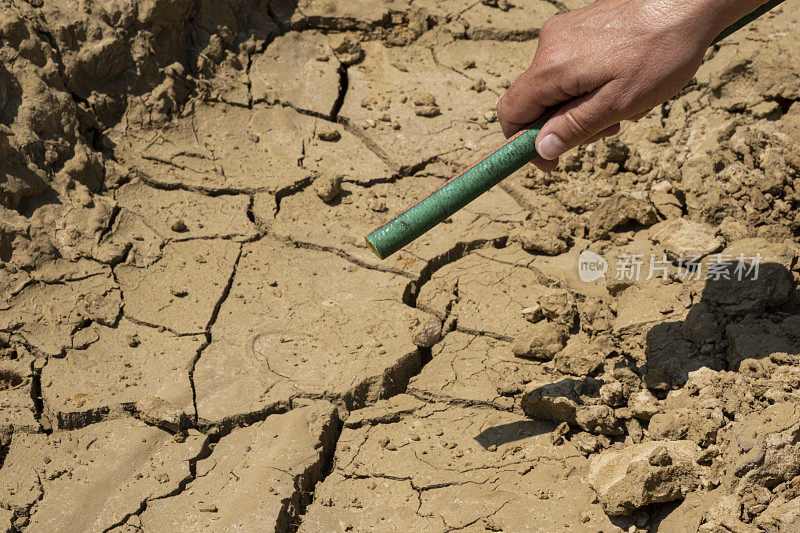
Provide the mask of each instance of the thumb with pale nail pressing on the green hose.
{"label": "thumb with pale nail pressing on the green hose", "polygon": [[619,92],[609,84],[563,105],[536,137],[536,151],[552,160],[625,119]]}

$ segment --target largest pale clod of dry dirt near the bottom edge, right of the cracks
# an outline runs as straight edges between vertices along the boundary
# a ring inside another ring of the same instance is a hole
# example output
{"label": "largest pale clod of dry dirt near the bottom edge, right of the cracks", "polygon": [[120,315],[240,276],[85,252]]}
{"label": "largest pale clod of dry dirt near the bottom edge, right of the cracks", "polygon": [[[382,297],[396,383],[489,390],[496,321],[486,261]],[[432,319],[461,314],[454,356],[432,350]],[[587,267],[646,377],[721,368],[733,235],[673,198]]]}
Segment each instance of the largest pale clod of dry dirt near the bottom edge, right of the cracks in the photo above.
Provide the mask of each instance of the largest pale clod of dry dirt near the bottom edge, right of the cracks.
{"label": "largest pale clod of dry dirt near the bottom edge, right of the cracks", "polygon": [[589,483],[606,513],[630,515],[653,503],[683,499],[701,483],[695,461],[700,448],[690,441],[650,441],[594,457]]}

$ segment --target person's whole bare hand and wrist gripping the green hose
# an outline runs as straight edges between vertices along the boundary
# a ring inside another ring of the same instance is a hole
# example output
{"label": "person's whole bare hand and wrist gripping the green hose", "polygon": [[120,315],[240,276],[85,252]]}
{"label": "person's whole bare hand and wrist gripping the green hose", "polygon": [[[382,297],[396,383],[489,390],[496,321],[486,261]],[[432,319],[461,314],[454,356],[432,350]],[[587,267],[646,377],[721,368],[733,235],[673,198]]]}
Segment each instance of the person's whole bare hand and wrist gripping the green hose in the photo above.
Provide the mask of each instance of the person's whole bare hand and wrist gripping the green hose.
{"label": "person's whole bare hand and wrist gripping the green hose", "polygon": [[616,135],[675,96],[723,29],[764,0],[600,0],[542,26],[531,66],[497,104],[508,137],[549,108],[536,138],[544,171],[568,150]]}

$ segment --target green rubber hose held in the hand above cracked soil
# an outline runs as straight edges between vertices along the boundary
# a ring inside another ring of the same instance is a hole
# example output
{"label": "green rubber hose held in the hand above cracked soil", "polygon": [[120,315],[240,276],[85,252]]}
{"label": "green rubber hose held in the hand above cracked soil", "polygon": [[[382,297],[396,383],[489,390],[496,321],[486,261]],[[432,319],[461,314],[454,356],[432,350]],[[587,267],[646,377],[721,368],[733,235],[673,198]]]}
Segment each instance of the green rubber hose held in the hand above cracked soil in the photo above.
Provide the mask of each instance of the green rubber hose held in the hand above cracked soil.
{"label": "green rubber hose held in the hand above cracked soil", "polygon": [[[757,19],[783,0],[770,0],[731,24],[712,44]],[[483,159],[451,178],[431,194],[365,237],[367,246],[381,259],[424,235],[431,228],[522,168],[536,157],[536,136],[546,116],[509,138]]]}

